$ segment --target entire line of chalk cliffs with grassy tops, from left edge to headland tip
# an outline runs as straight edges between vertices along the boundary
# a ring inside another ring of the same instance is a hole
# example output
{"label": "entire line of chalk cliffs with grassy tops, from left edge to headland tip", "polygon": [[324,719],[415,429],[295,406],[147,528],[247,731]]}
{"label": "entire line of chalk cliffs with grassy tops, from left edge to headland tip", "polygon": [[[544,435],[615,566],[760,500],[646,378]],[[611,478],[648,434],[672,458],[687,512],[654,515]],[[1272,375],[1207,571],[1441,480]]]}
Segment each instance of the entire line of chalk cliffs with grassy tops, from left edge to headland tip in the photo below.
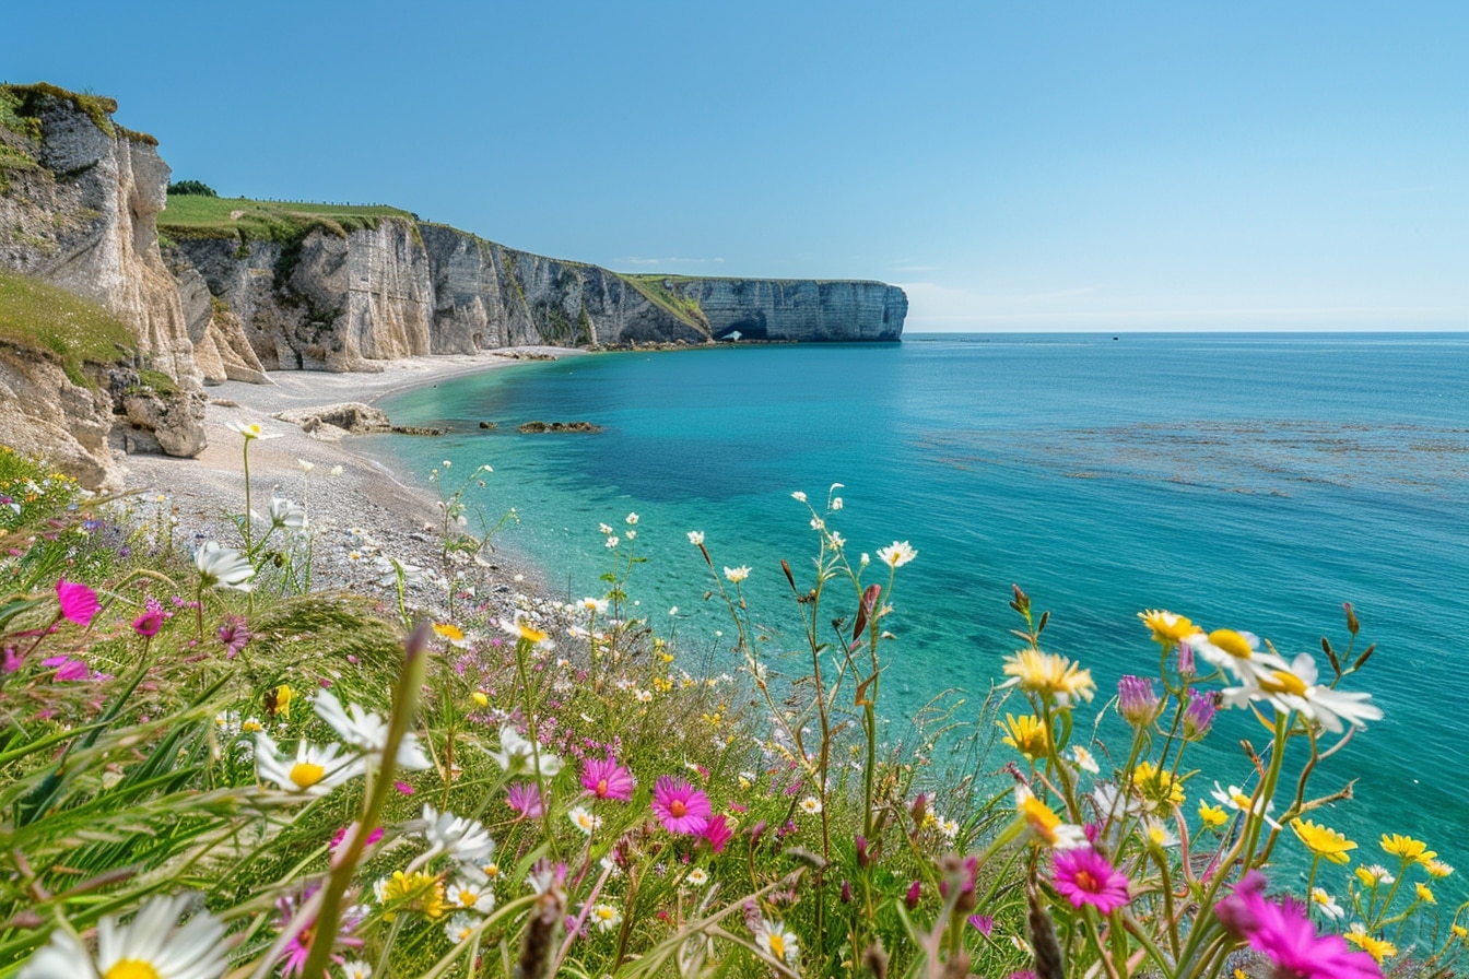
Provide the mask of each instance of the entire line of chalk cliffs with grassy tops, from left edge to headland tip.
{"label": "entire line of chalk cliffs with grassy tops, from left edge to headland tip", "polygon": [[203,386],[272,370],[902,335],[880,282],[633,276],[392,207],[169,194],[159,141],[116,110],[0,85],[0,430],[88,486],[116,484],[109,445],[198,454]]}

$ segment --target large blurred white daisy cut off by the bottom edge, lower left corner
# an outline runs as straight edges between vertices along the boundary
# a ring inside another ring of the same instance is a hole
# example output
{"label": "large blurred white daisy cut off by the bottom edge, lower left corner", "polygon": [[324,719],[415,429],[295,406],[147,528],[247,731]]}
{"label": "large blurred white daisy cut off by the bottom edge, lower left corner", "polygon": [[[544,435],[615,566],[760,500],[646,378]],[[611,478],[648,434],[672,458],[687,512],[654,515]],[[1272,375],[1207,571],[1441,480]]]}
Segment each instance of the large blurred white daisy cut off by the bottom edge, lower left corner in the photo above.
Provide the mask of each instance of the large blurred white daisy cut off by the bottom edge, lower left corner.
{"label": "large blurred white daisy cut off by the bottom edge, lower left corner", "polygon": [[103,917],[95,961],[71,933],[51,932],[50,944],[31,956],[19,979],[219,979],[228,967],[225,926],[209,911],[179,925],[195,903],[192,894],[156,897],[120,928],[110,914]]}

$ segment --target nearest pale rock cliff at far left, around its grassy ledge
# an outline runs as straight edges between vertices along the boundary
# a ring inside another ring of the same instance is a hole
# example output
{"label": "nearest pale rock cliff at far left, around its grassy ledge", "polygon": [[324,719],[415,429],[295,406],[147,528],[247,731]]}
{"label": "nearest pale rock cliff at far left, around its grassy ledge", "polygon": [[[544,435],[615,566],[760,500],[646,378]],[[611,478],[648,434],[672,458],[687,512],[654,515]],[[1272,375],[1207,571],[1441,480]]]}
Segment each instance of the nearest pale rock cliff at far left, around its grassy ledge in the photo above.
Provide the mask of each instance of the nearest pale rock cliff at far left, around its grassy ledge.
{"label": "nearest pale rock cliff at far left, around its grassy ledge", "polygon": [[[53,427],[66,432],[31,448],[46,451],[87,486],[116,486],[119,467],[107,437],[112,414],[98,408],[110,402],[129,426],[122,439],[129,451],[197,455],[206,445],[197,338],[159,251],[157,214],[167,201],[169,167],[157,141],[118,126],[110,98],[38,84],[0,87],[0,100],[6,110],[0,269],[90,299],[132,333],[131,351],[118,351],[116,363],[98,365],[98,377],[112,374],[100,382],[112,385],[112,398],[71,380],[56,383],[44,354],[32,351],[41,393],[25,405],[0,405],[3,437],[22,448]],[[24,373],[18,351],[10,360],[12,374]],[[129,360],[131,367],[123,363]],[[123,379],[137,382],[140,368],[169,383],[156,389]],[[132,393],[123,396],[122,389]]]}

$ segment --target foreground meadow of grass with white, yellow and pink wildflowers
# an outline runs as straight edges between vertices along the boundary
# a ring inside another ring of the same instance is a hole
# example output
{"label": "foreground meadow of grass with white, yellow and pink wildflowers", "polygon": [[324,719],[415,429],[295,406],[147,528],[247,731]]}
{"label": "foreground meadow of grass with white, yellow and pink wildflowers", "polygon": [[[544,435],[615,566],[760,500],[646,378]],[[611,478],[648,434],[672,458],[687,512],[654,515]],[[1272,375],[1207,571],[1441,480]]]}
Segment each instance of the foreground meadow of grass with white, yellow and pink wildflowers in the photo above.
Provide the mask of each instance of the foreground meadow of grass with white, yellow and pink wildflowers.
{"label": "foreground meadow of grass with white, yellow and pink wildflowers", "polygon": [[[237,432],[248,487],[269,432]],[[687,533],[710,659],[639,616],[638,514],[588,528],[602,593],[491,600],[498,527],[461,517],[492,476],[451,474],[414,567],[248,489],[185,546],[0,451],[0,978],[1465,975],[1454,837],[1327,818],[1321,762],[1382,716],[1350,606],[1299,655],[1140,611],[1149,669],[1102,690],[1017,587],[995,690],[895,728],[923,555],[853,553],[837,487],[795,493],[801,559]],[[317,587],[328,547],[379,587]],[[1196,768],[1230,710],[1259,735]]]}

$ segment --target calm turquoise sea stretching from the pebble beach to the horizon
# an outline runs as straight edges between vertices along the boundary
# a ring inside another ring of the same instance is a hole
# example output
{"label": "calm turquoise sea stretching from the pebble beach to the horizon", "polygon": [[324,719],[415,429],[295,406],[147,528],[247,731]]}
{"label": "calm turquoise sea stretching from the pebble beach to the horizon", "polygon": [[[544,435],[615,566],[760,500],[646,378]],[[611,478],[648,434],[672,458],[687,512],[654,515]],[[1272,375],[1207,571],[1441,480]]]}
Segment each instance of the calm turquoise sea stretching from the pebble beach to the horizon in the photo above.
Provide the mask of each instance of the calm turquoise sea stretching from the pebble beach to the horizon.
{"label": "calm turquoise sea stretching from the pebble beach to the horizon", "polygon": [[[521,515],[502,543],[571,599],[605,589],[598,524],[638,512],[649,561],[630,593],[714,662],[724,622],[686,531],[705,531],[717,564],[751,565],[755,619],[790,627],[779,562],[799,574],[815,547],[790,493],[820,501],[843,483],[831,525],[852,552],[918,549],[892,619],[895,722],[945,688],[983,699],[1014,649],[1011,583],[1052,611],[1047,647],[1090,666],[1103,699],[1121,674],[1156,669],[1140,609],[1319,653],[1324,634],[1346,643],[1351,602],[1378,652],[1346,685],[1387,716],[1325,766],[1322,790],[1360,776],[1325,820],[1371,850],[1384,831],[1418,834],[1469,870],[1450,834],[1469,825],[1469,335],[918,335],[607,354],[383,407],[454,432],[373,452],[419,477],[442,459],[491,464],[486,515]],[[516,432],[533,418],[605,432]],[[1231,746],[1265,741],[1252,724],[1234,712],[1197,756],[1208,771],[1190,798],[1247,778]]]}

